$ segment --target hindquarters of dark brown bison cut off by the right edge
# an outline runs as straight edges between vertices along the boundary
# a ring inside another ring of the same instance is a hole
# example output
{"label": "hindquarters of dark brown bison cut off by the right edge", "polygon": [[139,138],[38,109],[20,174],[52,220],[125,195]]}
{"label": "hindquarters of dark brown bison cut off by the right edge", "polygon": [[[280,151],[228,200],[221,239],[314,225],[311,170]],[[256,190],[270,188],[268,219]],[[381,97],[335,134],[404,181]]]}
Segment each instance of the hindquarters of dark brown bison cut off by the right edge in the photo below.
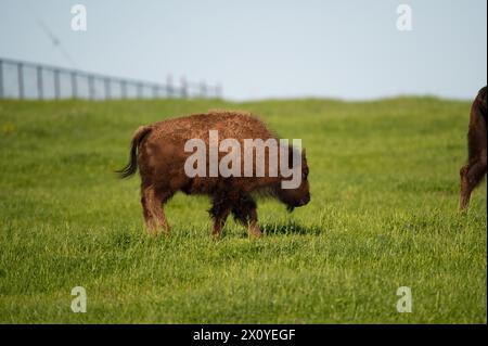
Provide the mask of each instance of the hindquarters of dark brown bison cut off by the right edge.
{"label": "hindquarters of dark brown bison cut off by the right edge", "polygon": [[487,128],[486,128],[486,87],[479,90],[471,106],[470,129],[467,131],[467,164],[461,168],[461,196],[459,208],[465,210],[473,190],[479,184],[487,171]]}

